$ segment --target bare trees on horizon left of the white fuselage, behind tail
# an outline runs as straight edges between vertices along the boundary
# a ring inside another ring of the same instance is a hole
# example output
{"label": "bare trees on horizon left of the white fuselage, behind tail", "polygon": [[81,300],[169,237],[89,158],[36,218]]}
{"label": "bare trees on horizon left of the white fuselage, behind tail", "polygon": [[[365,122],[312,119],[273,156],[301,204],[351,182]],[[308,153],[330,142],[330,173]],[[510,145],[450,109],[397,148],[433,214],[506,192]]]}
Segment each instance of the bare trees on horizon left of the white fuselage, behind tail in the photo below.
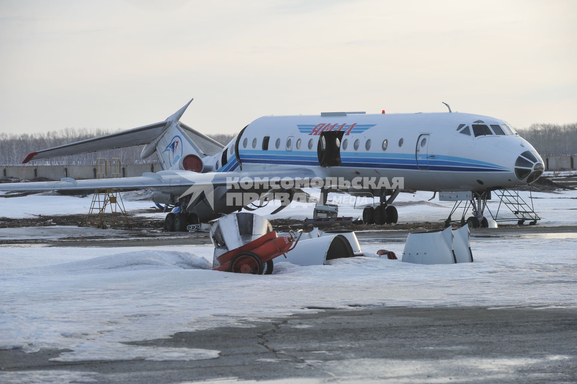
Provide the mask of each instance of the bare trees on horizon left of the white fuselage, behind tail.
{"label": "bare trees on horizon left of the white fuselage, behind tail", "polygon": [[[109,133],[119,132],[120,129],[99,129],[99,128],[65,128],[59,131],[48,131],[43,133],[0,133],[0,165],[20,165],[26,155],[32,151],[43,150],[73,143],[74,141],[92,139]],[[212,139],[219,141],[223,145],[228,144],[235,134],[209,135]],[[156,155],[147,159],[140,158],[140,152],[144,146],[133,146],[119,148],[116,150],[98,151],[89,154],[72,156],[62,156],[59,158],[39,160],[35,165],[92,165],[97,158],[107,160],[117,157],[123,164],[156,163]]]}

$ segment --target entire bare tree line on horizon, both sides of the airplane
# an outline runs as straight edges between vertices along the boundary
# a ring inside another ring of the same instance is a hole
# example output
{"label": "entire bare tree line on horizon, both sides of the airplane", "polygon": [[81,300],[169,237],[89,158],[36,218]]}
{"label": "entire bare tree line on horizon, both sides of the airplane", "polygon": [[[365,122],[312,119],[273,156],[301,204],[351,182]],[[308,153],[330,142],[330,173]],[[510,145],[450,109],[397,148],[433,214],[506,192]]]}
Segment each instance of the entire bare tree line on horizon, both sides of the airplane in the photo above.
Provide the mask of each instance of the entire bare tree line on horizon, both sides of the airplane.
{"label": "entire bare tree line on horizon, both sides of the airplane", "polygon": [[[92,137],[108,135],[119,129],[99,128],[65,128],[59,131],[43,133],[0,133],[0,165],[19,165],[32,151],[61,146],[74,141],[91,139]],[[577,154],[577,123],[574,124],[533,124],[529,128],[519,129],[519,135],[529,141],[541,155],[574,155]],[[236,136],[236,133],[216,133],[208,135],[219,143],[226,145]],[[156,163],[156,156],[141,159],[143,146],[120,148],[63,156],[35,162],[36,165],[92,165],[96,159],[118,157],[123,164]]]}

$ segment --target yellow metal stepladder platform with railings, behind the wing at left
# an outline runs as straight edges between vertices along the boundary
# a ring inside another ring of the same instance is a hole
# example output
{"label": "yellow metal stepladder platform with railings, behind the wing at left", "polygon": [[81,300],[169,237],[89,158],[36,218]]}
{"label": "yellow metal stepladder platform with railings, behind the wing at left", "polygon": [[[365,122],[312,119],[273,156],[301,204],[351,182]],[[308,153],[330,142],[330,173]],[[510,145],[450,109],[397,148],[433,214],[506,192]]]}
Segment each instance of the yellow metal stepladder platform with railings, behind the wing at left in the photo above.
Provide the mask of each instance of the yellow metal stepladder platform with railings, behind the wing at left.
{"label": "yellow metal stepladder platform with railings, behind the wing at left", "polygon": [[[106,159],[96,159],[96,178],[106,178],[107,169]],[[110,159],[110,177],[119,178],[120,173],[120,159]],[[107,208],[109,208],[110,215],[107,214]],[[117,225],[126,225],[130,228],[130,221],[128,215],[126,215],[124,202],[118,189],[95,189],[85,224],[102,229]]]}

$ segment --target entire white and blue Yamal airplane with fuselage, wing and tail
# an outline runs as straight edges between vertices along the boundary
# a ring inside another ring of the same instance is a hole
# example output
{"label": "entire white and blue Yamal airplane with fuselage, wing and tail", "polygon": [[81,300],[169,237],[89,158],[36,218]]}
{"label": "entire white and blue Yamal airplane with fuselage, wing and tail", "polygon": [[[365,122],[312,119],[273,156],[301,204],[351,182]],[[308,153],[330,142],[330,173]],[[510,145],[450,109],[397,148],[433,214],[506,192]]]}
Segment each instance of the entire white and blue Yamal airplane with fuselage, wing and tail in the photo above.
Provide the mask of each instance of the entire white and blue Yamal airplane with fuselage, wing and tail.
{"label": "entire white and blue Yamal airplane with fuselage, wing and tail", "polygon": [[[248,206],[245,200],[227,199],[234,192],[231,179],[257,181],[244,192],[269,196],[275,190],[258,180],[308,180],[301,187],[310,187],[317,185],[310,180],[337,178],[350,185],[358,177],[400,178],[404,185],[389,182],[377,188],[348,188],[354,196],[379,196],[376,207],[364,208],[364,222],[396,223],[398,212],[392,203],[400,189],[471,191],[473,217],[467,221],[476,227],[486,226],[483,213],[490,191],[530,184],[544,172],[541,156],[506,121],[452,112],[446,103],[449,111],[440,113],[383,110],[379,114],[264,116],[223,146],[180,121],[191,102],[164,121],[34,151],[23,161],[144,144],[141,158],[156,154],[162,167],[159,172],[0,184],[0,191],[151,188],[153,202],[173,207],[166,215],[166,230],[184,232],[189,224],[209,222]],[[326,207],[329,190],[326,185],[321,190],[320,208]],[[290,203],[291,189],[282,192],[288,192]]]}

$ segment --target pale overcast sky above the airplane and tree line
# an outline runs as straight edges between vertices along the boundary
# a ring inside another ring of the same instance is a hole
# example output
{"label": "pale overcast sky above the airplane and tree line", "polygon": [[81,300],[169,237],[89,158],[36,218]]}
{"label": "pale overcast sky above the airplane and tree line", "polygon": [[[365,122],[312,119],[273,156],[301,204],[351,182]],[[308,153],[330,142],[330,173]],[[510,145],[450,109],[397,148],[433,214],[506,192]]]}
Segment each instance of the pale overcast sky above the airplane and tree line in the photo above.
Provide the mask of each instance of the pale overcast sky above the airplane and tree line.
{"label": "pale overcast sky above the airplane and tree line", "polygon": [[0,133],[453,111],[577,122],[575,1],[0,0]]}

